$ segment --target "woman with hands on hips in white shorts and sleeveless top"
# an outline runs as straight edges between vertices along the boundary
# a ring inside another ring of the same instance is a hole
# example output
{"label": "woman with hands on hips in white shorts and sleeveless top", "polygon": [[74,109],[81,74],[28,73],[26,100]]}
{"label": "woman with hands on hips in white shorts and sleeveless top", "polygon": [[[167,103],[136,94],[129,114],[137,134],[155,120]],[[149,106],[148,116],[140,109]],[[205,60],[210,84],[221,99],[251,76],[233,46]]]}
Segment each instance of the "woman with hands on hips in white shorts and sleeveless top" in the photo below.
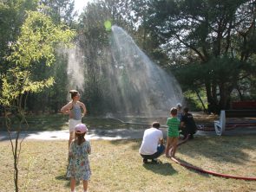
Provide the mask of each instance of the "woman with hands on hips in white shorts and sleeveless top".
{"label": "woman with hands on hips in white shorts and sleeveless top", "polygon": [[[82,117],[86,114],[86,107],[79,101],[80,94],[76,90],[70,90],[71,101],[66,106],[63,106],[61,112],[63,114],[69,114],[69,147],[71,141],[74,139],[75,125],[82,123]],[[83,112],[81,111],[81,107]]]}

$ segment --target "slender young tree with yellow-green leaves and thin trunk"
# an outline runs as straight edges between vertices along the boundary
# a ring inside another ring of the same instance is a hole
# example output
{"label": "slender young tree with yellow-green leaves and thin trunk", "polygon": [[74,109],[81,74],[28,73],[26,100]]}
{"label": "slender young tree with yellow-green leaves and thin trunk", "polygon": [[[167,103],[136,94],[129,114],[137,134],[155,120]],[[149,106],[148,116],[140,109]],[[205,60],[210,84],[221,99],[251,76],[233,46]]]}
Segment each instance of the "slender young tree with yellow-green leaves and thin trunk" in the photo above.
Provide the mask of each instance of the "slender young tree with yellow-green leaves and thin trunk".
{"label": "slender young tree with yellow-green leaves and thin trunk", "polygon": [[[52,77],[44,80],[36,79],[31,73],[32,68],[35,65],[50,66],[55,61],[56,45],[60,42],[68,45],[74,35],[74,31],[67,26],[56,26],[49,16],[36,11],[27,11],[27,18],[20,35],[12,46],[12,53],[7,57],[12,67],[7,70],[6,74],[3,74],[0,104],[5,109],[9,137],[10,131],[16,131],[15,141],[10,137],[16,192],[19,190],[18,162],[23,142],[23,140],[19,141],[19,135],[28,125],[25,118],[26,97],[29,93],[42,92],[45,87],[52,86],[54,83]],[[19,122],[16,129],[13,129],[10,124],[8,116],[10,110],[15,112]]]}

